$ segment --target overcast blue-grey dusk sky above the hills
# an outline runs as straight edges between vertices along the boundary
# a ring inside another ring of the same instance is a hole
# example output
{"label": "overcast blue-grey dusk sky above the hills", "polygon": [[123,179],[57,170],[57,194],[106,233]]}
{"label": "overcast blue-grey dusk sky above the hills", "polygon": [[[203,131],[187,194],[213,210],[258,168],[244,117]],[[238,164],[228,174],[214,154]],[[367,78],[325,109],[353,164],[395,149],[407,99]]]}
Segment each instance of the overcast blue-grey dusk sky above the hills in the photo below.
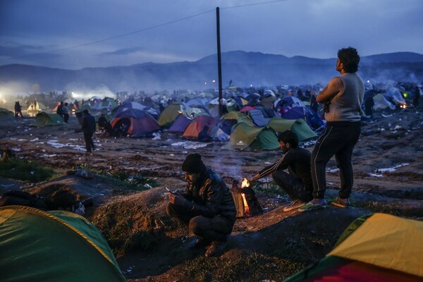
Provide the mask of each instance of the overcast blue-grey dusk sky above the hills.
{"label": "overcast blue-grey dusk sky above the hills", "polygon": [[0,0],[0,66],[197,61],[221,51],[423,54],[422,0]]}

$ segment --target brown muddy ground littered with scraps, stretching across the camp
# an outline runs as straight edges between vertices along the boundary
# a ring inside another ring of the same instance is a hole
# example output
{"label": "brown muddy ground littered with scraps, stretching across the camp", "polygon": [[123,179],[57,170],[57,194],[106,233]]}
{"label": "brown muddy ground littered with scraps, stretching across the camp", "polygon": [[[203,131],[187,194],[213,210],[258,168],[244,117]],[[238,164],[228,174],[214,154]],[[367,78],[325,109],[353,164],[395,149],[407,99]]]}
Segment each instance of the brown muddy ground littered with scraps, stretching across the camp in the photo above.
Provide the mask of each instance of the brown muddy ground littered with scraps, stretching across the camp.
{"label": "brown muddy ground littered with scraps, stretching across the camp", "polygon": [[[191,252],[186,249],[190,234],[183,226],[168,219],[164,209],[167,203],[165,187],[183,188],[180,164],[185,157],[197,152],[204,163],[223,176],[228,186],[232,180],[252,176],[264,166],[273,164],[281,152],[228,151],[221,149],[224,143],[201,144],[184,140],[166,132],[159,140],[152,138],[114,138],[100,131],[95,136],[97,150],[85,154],[78,120],[71,117],[66,125],[47,128],[31,127],[32,118],[8,121],[0,124],[0,148],[12,149],[16,157],[34,160],[43,166],[54,168],[59,177],[44,183],[19,183],[1,179],[0,191],[23,189],[39,192],[51,185],[68,185],[83,197],[92,197],[94,207],[87,209],[87,218],[99,227],[106,238],[112,238],[111,222],[118,222],[118,214],[128,217],[128,230],[121,237],[130,238],[140,231],[157,235],[156,245],[149,248],[122,251],[114,249],[121,269],[129,281],[190,281],[190,264],[202,262],[204,250]],[[372,120],[363,121],[362,136],[353,154],[355,183],[353,208],[328,207],[319,212],[299,214],[283,212],[288,203],[286,195],[266,193],[271,190],[271,179],[265,179],[257,191],[264,214],[239,219],[226,252],[219,257],[227,264],[238,265],[245,254],[269,255],[278,259],[292,259],[293,254],[280,254],[278,246],[289,246],[293,238],[305,246],[298,252],[303,265],[315,262],[331,250],[328,237],[336,237],[358,216],[371,212],[389,212],[412,219],[423,219],[423,111],[404,109],[378,111]],[[310,151],[313,142],[303,144]],[[102,173],[125,171],[157,181],[158,186],[142,192],[125,190],[104,178],[86,179],[66,176],[66,172],[86,168]],[[334,159],[329,162],[328,198],[336,197],[339,173]],[[107,219],[106,219],[107,218]],[[111,219],[114,219],[111,221]],[[107,224],[105,222],[108,222]],[[109,224],[109,225],[108,225]],[[115,224],[116,225],[116,224]],[[109,232],[109,233],[108,233]],[[116,234],[115,234],[116,235]],[[109,236],[109,237],[108,237]],[[188,238],[187,238],[188,237]],[[111,240],[111,239],[110,239]],[[116,239],[117,241],[119,239]],[[323,243],[322,243],[323,242]],[[110,242],[111,245],[118,245]],[[293,245],[293,252],[295,246]],[[298,257],[297,257],[298,259]],[[290,271],[271,269],[266,260],[260,279],[281,281]],[[235,266],[233,266],[235,267]],[[210,275],[215,275],[214,273]],[[252,277],[253,274],[251,274]],[[247,275],[248,276],[248,275]],[[257,281],[245,277],[244,281]],[[251,279],[251,280],[249,280]],[[213,281],[204,278],[204,281]],[[228,280],[229,281],[229,280]]]}

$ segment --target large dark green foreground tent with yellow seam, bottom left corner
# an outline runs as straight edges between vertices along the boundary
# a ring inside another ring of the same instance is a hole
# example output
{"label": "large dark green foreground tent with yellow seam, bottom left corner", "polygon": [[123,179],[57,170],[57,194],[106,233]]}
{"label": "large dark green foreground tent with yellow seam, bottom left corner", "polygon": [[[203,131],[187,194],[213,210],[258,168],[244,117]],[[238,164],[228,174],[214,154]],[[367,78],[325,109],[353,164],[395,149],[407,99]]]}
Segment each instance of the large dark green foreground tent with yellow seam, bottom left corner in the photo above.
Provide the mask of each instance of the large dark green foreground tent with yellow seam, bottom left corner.
{"label": "large dark green foreground tent with yellow seam, bottom left corner", "polygon": [[102,233],[65,211],[0,207],[1,281],[126,281]]}

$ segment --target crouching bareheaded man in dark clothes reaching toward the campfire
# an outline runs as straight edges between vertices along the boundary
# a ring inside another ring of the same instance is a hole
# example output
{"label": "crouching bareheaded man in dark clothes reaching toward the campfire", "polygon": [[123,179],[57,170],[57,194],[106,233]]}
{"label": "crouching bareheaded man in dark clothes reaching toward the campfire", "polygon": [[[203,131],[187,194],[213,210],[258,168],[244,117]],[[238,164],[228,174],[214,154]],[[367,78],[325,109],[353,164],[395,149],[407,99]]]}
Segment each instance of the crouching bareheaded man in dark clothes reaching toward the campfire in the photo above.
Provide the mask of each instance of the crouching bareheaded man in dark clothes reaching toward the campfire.
{"label": "crouching bareheaded man in dark clothes reaching toward the campfire", "polygon": [[[278,135],[279,147],[286,153],[279,161],[266,166],[249,181],[254,181],[272,173],[274,181],[288,194],[292,202],[283,212],[298,209],[313,199],[313,183],[310,169],[311,153],[298,147],[298,136],[291,130]],[[288,168],[288,172],[283,171]]]}

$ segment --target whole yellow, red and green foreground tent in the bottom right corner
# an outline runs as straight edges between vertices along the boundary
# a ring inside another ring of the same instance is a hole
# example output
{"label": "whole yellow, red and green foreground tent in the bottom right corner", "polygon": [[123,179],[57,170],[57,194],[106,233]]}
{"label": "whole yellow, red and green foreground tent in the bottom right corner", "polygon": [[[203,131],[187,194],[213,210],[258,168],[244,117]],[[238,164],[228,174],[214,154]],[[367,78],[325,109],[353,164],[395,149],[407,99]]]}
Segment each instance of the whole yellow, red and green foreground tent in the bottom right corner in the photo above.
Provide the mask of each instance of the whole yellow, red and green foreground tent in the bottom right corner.
{"label": "whole yellow, red and green foreground tent in the bottom right corner", "polygon": [[423,222],[389,214],[353,221],[336,247],[294,281],[423,281]]}

